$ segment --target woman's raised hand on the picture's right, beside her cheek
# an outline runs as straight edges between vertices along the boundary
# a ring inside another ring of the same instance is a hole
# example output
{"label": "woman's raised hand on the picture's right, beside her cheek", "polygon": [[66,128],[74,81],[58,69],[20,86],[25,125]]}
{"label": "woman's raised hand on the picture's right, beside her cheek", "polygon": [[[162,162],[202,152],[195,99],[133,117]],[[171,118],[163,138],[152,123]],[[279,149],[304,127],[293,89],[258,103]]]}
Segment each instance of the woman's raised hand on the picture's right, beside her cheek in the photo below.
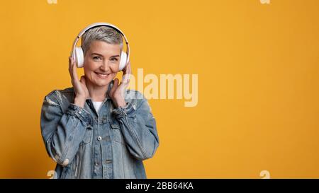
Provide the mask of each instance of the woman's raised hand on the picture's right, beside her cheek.
{"label": "woman's raised hand on the picture's right, beside her cheek", "polygon": [[113,101],[116,107],[125,107],[126,102],[124,100],[126,88],[128,88],[128,84],[130,83],[130,62],[123,69],[123,77],[120,85],[118,85],[118,78],[114,79],[113,88],[111,88],[109,97]]}

